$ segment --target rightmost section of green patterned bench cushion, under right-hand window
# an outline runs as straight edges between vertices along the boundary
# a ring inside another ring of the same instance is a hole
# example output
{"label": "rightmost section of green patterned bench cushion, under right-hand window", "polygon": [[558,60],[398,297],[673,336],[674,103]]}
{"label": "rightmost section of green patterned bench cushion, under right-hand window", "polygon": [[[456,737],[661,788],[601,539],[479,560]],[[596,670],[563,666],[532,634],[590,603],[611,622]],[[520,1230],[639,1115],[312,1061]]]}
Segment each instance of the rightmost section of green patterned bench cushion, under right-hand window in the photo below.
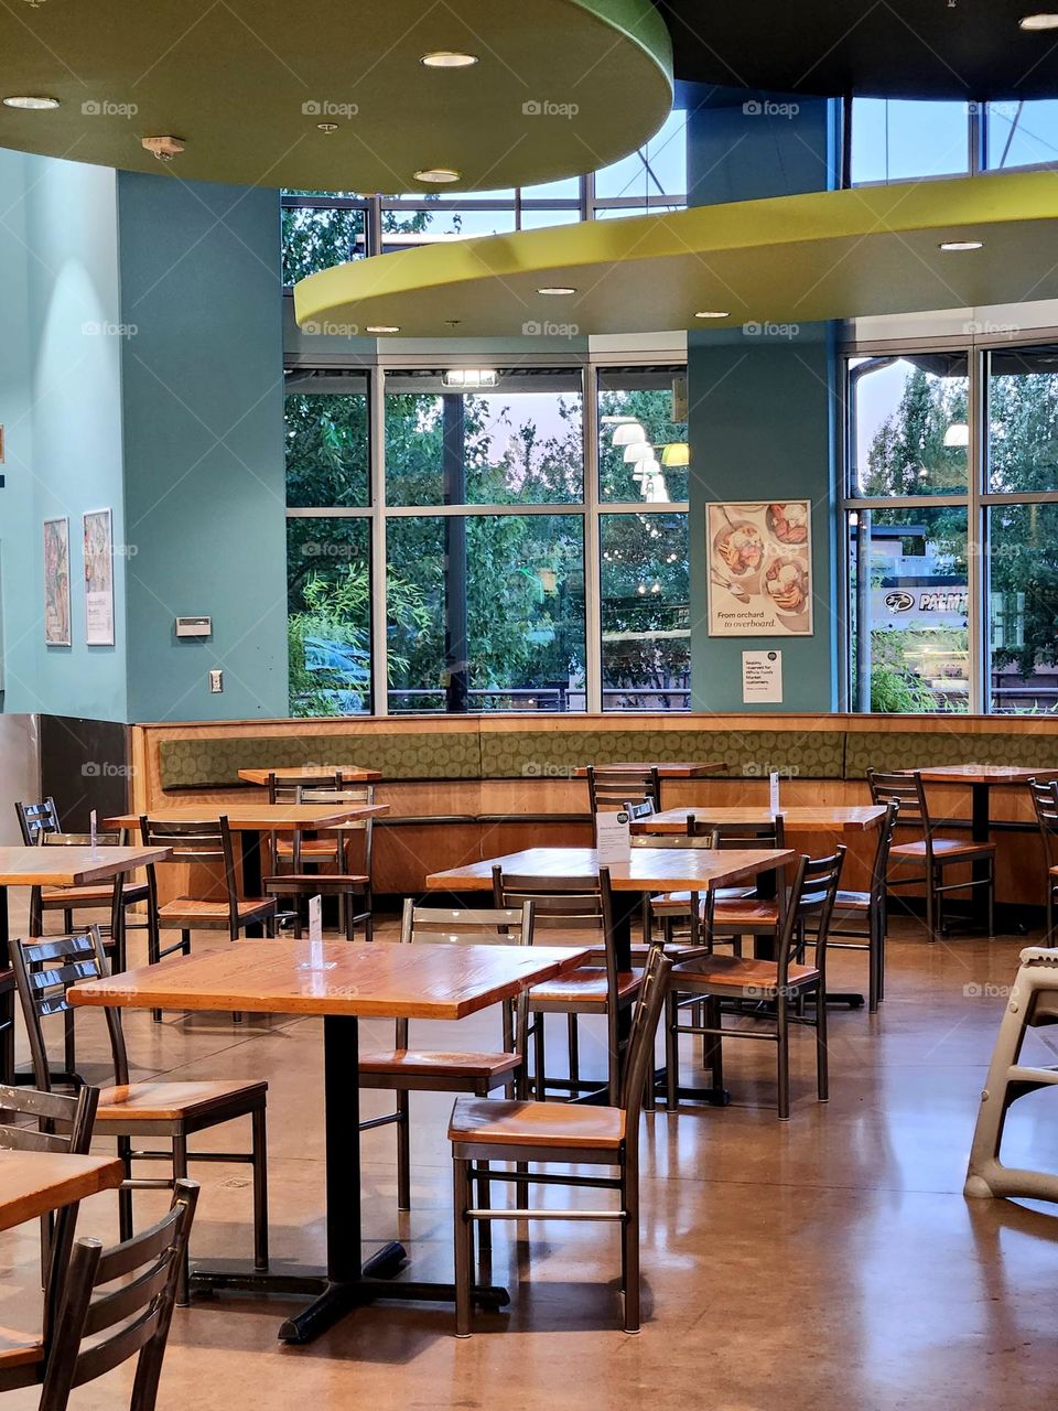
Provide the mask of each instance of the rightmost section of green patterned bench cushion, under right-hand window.
{"label": "rightmost section of green patterned bench cushion, under right-hand window", "polygon": [[868,769],[928,769],[938,765],[1023,765],[1058,769],[1058,735],[962,734],[951,731],[849,731],[845,777],[865,779]]}

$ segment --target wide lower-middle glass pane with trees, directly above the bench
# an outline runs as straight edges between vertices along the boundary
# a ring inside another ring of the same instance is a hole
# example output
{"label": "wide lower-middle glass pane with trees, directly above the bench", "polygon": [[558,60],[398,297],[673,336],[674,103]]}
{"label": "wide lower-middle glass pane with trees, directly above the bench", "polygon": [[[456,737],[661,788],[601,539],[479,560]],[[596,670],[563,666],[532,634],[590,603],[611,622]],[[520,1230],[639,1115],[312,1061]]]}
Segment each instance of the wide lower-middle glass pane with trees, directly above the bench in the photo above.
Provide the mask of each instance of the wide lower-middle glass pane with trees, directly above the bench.
{"label": "wide lower-middle glass pane with trees, directly above the bench", "polygon": [[585,708],[580,515],[392,519],[387,546],[391,711],[446,710],[463,665],[467,710]]}

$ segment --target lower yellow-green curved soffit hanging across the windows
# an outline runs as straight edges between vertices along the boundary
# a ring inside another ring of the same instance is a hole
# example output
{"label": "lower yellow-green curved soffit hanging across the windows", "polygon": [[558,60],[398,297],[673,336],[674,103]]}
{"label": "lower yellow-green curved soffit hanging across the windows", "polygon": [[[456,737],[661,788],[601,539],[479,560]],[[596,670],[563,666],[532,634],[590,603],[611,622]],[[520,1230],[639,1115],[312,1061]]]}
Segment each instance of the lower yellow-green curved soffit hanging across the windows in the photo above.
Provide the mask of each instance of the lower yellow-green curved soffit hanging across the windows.
{"label": "lower yellow-green curved soffit hanging across the windows", "polygon": [[[947,253],[942,241],[980,240]],[[571,286],[568,298],[543,286]],[[914,182],[488,236],[302,279],[302,326],[409,337],[800,325],[1058,296],[1058,174]],[[697,320],[714,310],[726,319]]]}

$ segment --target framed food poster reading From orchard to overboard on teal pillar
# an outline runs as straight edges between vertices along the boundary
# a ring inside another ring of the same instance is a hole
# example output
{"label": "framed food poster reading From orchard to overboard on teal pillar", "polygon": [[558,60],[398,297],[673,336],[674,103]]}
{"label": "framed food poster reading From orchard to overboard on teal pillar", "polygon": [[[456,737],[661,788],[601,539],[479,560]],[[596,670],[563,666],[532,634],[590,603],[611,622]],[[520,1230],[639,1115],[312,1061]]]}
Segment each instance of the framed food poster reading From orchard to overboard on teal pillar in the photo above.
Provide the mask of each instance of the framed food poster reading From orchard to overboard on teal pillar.
{"label": "framed food poster reading From orchard to overboard on teal pillar", "polygon": [[811,636],[811,501],[707,505],[710,636]]}

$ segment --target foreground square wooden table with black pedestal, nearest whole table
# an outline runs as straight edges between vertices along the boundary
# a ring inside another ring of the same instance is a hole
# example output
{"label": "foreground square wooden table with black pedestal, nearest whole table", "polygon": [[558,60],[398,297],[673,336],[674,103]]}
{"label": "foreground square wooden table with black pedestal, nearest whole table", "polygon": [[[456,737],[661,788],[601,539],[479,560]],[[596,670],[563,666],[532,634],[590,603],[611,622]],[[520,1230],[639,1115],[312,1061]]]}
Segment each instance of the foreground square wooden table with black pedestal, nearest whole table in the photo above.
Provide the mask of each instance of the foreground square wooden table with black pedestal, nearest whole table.
{"label": "foreground square wooden table with black pedestal, nearest whole table", "polygon": [[[375,1300],[453,1302],[451,1284],[395,1280],[405,1250],[387,1245],[361,1267],[358,1022],[463,1019],[553,979],[585,951],[546,945],[401,945],[374,941],[240,941],[76,985],[75,1005],[134,1009],[243,1010],[323,1016],[327,1153],[327,1267],[299,1274],[250,1268],[192,1271],[192,1288],[309,1297],[279,1328],[284,1342],[310,1342],[336,1319]],[[475,1290],[501,1307],[504,1288]]]}

